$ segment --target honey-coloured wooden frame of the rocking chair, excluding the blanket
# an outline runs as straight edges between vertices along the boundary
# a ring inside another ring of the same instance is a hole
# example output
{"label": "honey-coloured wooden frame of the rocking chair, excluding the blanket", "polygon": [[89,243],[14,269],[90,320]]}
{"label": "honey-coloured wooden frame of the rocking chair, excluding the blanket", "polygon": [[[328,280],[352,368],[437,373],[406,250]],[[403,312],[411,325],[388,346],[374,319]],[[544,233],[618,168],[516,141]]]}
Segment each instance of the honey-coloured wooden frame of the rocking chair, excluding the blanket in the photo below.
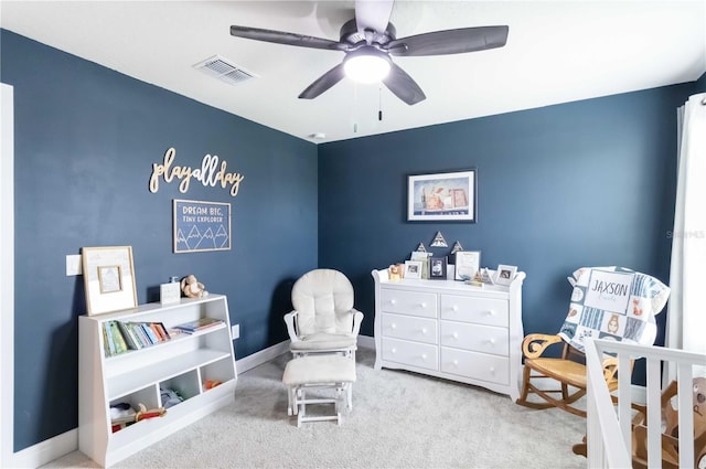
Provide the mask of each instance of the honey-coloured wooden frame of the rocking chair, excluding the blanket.
{"label": "honey-coloured wooden frame of the rocking chair, excluding the blanket", "polygon": [[[543,353],[549,345],[564,343],[561,358],[545,358]],[[558,407],[580,417],[586,417],[586,411],[573,404],[586,395],[586,364],[584,354],[564,342],[559,335],[528,334],[522,342],[525,356],[522,394],[517,404],[532,408]],[[632,370],[631,370],[632,372]],[[603,376],[608,391],[618,388],[618,360],[603,360]],[[552,383],[550,381],[554,381]],[[547,388],[539,383],[555,386]],[[556,386],[559,386],[556,388]],[[530,394],[536,394],[543,402],[530,401]],[[556,396],[556,397],[555,397]]]}

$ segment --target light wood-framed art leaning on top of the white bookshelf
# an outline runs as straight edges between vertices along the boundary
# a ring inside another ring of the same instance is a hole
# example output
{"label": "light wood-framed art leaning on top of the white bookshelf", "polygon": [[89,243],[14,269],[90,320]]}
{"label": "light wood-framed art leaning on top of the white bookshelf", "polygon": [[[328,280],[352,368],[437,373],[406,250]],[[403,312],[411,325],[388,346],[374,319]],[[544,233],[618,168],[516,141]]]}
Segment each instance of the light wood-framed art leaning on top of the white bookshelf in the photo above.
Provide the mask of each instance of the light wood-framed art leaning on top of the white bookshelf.
{"label": "light wood-framed art leaning on top of the white bookshelf", "polygon": [[88,316],[137,308],[132,246],[83,247]]}

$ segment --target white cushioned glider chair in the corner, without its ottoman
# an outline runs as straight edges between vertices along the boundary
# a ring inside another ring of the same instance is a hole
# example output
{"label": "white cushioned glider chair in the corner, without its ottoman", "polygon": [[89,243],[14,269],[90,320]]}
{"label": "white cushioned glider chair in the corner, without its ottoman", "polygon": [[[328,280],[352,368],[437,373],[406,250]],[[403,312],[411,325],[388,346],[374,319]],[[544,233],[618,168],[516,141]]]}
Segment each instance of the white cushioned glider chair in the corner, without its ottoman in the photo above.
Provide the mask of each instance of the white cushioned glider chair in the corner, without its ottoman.
{"label": "white cushioned glider chair in the corner, without its ottoman", "polygon": [[353,308],[353,286],[333,269],[304,274],[291,289],[293,311],[285,315],[295,358],[340,353],[355,360],[363,313]]}

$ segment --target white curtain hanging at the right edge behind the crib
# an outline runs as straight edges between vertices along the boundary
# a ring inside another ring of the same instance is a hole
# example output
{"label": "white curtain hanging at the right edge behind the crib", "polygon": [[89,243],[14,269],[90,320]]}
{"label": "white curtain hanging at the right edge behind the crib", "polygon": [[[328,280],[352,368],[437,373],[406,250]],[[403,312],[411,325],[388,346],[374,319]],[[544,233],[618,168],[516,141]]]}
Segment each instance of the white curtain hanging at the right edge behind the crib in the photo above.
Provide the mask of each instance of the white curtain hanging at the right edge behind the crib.
{"label": "white curtain hanging at the right edge behind the crib", "polygon": [[[706,354],[706,93],[678,108],[677,130],[666,347]],[[706,376],[706,364],[694,374]],[[668,367],[665,380],[674,379],[676,370]]]}

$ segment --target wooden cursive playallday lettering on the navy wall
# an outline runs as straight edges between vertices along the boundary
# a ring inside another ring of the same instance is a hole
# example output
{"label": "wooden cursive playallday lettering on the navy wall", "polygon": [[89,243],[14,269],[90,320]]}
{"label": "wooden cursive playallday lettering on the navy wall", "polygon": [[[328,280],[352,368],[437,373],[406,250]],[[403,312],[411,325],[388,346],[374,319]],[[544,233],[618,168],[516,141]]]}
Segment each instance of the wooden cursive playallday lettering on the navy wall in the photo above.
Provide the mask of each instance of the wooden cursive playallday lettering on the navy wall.
{"label": "wooden cursive playallday lettering on the navy wall", "polygon": [[221,185],[223,189],[226,185],[231,185],[231,195],[236,196],[240,188],[240,182],[245,179],[245,175],[239,172],[227,172],[228,163],[221,161],[218,167],[218,157],[215,154],[206,154],[201,161],[201,168],[180,167],[172,166],[176,150],[172,147],[164,152],[164,160],[162,163],[152,163],[152,175],[150,177],[150,192],[156,193],[159,191],[160,178],[164,179],[164,182],[170,183],[172,180],[178,179],[179,192],[186,193],[189,191],[189,184],[194,179],[201,182],[203,185],[211,185],[215,188]]}

